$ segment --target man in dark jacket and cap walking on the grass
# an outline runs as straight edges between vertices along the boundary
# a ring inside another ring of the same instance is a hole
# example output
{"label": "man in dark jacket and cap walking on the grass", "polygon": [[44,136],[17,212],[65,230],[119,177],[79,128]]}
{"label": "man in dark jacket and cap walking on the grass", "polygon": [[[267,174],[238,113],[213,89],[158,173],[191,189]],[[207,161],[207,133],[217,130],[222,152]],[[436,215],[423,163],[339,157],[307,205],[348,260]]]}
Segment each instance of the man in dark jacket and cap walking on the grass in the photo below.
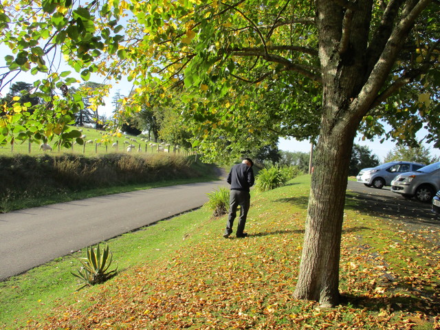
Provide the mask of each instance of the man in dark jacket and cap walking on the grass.
{"label": "man in dark jacket and cap walking on the grass", "polygon": [[237,237],[248,236],[248,233],[243,232],[246,224],[246,217],[250,207],[250,187],[254,185],[254,171],[252,166],[254,162],[250,158],[243,159],[241,164],[232,166],[226,181],[231,185],[230,199],[229,199],[229,216],[228,223],[223,237],[227,239],[232,234],[232,225],[236,217],[236,209],[240,206],[239,225],[236,228]]}

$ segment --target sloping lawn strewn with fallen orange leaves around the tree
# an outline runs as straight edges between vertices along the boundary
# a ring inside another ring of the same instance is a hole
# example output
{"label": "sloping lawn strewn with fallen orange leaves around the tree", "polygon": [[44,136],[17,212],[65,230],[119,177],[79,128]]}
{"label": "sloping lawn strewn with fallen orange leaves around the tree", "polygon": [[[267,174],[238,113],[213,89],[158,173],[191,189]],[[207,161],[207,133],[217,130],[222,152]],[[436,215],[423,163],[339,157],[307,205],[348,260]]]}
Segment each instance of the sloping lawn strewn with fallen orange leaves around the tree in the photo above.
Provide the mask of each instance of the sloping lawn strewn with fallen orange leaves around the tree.
{"label": "sloping lawn strewn with fallen orange leaves around the tree", "polygon": [[80,292],[72,256],[10,278],[0,285],[0,327],[439,329],[439,242],[360,212],[350,196],[342,305],[292,298],[308,192],[307,175],[252,192],[246,239],[223,239],[226,217],[204,208],[112,239],[120,274]]}

